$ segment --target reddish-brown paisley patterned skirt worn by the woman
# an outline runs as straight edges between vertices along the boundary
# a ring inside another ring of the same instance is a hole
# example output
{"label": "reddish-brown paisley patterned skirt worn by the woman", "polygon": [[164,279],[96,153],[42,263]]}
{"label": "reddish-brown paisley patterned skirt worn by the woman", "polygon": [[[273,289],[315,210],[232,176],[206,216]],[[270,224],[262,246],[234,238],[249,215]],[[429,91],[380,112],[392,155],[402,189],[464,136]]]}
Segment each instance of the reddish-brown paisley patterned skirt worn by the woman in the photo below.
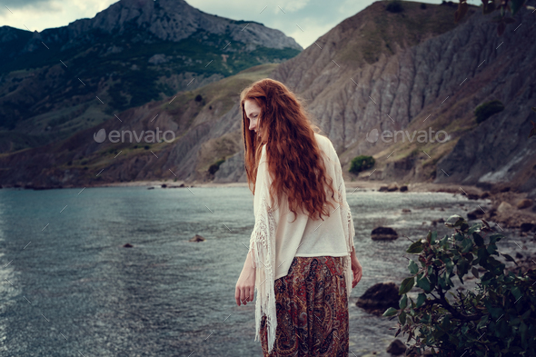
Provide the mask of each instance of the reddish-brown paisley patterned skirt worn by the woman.
{"label": "reddish-brown paisley patterned skirt worn by the woman", "polygon": [[264,357],[347,357],[348,297],[342,257],[296,256],[289,273],[274,282],[276,337],[268,353],[266,316],[261,320]]}

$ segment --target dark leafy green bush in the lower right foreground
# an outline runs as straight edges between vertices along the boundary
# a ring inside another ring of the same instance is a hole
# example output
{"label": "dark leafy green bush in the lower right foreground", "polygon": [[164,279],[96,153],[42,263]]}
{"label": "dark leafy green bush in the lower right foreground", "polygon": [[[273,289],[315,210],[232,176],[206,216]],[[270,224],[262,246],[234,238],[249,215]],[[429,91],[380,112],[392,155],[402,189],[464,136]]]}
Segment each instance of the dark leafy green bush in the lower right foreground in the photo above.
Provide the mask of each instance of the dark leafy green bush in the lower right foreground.
{"label": "dark leafy green bush in the lower right foreground", "polygon": [[[429,232],[406,251],[418,254],[421,266],[410,260],[412,276],[401,283],[400,309],[391,307],[383,316],[398,316],[395,337],[408,333],[408,342],[414,341],[413,352],[431,350],[438,356],[463,357],[536,355],[536,271],[504,274],[505,264],[492,255],[515,261],[497,251],[496,243],[504,236],[481,221],[470,228],[461,216],[452,215],[445,223],[455,230],[450,237],[437,239],[437,232]],[[483,268],[482,275],[477,266]],[[451,278],[457,275],[463,283],[469,272],[478,279],[475,291],[452,293]],[[413,285],[423,292],[416,302],[407,295]]]}

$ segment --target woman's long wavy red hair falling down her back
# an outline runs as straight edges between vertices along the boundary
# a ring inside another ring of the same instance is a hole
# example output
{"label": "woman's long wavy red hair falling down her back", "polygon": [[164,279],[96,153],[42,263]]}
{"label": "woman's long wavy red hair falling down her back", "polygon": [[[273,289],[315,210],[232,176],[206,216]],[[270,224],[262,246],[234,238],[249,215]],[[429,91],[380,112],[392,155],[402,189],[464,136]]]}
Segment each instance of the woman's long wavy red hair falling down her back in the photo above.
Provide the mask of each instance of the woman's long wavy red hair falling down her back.
{"label": "woman's long wavy red hair falling down her back", "polygon": [[[261,108],[257,116],[260,137],[249,130],[249,118],[244,109],[244,102],[248,99]],[[327,204],[335,206],[324,187],[328,187],[331,198],[334,198],[333,178],[326,174],[322,151],[314,137],[314,133],[320,134],[321,130],[311,122],[303,99],[289,91],[283,83],[264,78],[243,89],[240,104],[245,171],[253,194],[263,144],[266,144],[268,169],[273,177],[271,207],[275,209],[273,197],[277,196],[278,202],[282,202],[285,193],[294,221],[298,208],[306,211],[303,213],[313,220],[323,220],[323,215],[329,217]]]}

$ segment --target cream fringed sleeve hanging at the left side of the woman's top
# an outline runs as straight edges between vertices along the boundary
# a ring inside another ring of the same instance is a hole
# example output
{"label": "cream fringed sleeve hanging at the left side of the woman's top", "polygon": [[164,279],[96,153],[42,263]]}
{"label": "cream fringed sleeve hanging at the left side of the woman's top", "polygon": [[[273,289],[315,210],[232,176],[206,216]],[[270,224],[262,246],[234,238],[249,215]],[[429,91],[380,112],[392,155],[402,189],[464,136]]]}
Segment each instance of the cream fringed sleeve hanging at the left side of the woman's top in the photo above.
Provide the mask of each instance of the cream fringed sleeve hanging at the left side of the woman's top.
{"label": "cream fringed sleeve hanging at the left side of the woman's top", "polygon": [[275,342],[277,316],[274,293],[275,274],[275,233],[278,216],[270,206],[270,184],[272,177],[268,170],[265,147],[257,169],[253,212],[255,224],[250,238],[249,253],[252,254],[255,268],[255,289],[257,300],[255,305],[255,341],[260,341],[260,327],[263,314],[266,315],[268,345],[270,352]]}

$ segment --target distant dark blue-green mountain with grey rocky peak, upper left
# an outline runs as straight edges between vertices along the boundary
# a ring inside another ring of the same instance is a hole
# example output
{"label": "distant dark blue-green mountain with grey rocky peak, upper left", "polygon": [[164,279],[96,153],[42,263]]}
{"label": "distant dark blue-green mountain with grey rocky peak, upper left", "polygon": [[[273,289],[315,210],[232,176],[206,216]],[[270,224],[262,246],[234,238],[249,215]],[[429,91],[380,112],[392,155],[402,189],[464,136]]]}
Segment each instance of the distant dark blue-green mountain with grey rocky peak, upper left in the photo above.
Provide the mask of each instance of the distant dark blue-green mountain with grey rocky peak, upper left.
{"label": "distant dark blue-green mountain with grey rocky peak, upper left", "polygon": [[41,33],[2,26],[0,153],[57,142],[127,108],[302,49],[279,30],[184,0],[122,0]]}

